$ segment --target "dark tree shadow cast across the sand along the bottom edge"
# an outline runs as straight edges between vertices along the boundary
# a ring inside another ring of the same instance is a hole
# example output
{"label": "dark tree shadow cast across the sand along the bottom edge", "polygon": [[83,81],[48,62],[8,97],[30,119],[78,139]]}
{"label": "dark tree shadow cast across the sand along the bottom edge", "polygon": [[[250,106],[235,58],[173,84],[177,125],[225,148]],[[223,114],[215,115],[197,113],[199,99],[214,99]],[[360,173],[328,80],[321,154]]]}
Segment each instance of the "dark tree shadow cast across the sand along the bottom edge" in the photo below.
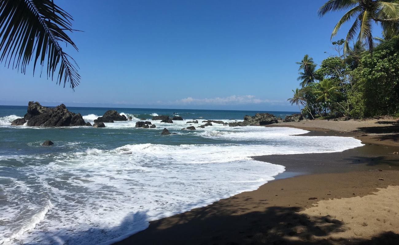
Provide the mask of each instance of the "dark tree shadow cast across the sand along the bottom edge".
{"label": "dark tree shadow cast across the sand along the bottom edge", "polygon": [[379,234],[372,240],[332,238],[328,236],[350,228],[330,216],[300,214],[299,207],[272,206],[264,211],[250,212],[255,206],[267,204],[267,200],[246,200],[246,204],[255,206],[245,208],[242,205],[243,198],[236,199],[233,204],[217,202],[172,218],[154,221],[148,229],[116,244],[396,245],[399,239],[399,235],[392,232]]}

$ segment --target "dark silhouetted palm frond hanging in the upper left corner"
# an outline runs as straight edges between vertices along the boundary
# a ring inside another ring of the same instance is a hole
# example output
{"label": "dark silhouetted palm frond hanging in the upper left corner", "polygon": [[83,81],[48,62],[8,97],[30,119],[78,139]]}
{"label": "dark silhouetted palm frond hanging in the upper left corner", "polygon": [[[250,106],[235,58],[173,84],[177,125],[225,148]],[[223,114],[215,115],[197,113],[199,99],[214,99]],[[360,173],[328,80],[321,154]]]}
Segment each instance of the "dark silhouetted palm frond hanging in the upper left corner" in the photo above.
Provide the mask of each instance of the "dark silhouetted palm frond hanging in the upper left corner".
{"label": "dark silhouetted palm frond hanging in the upper left corner", "polygon": [[34,61],[33,73],[39,61],[47,64],[47,78],[57,74],[57,84],[69,83],[74,89],[80,76],[77,64],[61,47],[61,42],[75,43],[65,31],[71,29],[72,16],[53,0],[0,0],[0,63],[26,73]]}

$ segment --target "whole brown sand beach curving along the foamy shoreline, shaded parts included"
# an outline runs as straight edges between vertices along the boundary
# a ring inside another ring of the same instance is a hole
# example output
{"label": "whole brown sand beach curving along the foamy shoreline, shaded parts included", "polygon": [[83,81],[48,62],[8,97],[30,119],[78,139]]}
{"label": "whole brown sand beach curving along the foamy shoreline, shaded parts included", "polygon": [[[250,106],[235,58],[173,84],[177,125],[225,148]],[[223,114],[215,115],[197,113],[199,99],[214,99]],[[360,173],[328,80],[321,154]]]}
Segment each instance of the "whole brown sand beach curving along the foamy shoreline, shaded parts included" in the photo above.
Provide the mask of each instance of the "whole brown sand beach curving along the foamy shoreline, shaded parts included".
{"label": "whole brown sand beach curving along the foamy shoreline, shaded parts included", "polygon": [[286,171],[259,189],[162,220],[116,244],[398,244],[398,124],[393,119],[279,123],[347,136],[338,153],[269,155]]}

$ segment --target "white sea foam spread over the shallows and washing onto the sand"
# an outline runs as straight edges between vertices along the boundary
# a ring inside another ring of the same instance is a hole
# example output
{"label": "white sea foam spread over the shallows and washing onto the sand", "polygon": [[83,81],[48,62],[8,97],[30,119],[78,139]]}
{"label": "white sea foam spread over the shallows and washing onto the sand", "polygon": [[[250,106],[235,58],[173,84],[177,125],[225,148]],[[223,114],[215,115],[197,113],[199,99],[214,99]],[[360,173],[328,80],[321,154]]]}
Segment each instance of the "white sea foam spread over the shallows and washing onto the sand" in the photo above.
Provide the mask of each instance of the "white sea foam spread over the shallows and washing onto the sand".
{"label": "white sea foam spread over the shallows and washing onto the sand", "polygon": [[[138,130],[134,122],[124,123],[107,127],[129,125]],[[168,124],[168,128],[183,125],[185,121]],[[4,182],[8,205],[0,207],[0,213],[8,217],[0,231],[11,240],[7,243],[111,244],[145,229],[149,221],[255,190],[284,171],[284,166],[255,161],[251,156],[333,152],[362,145],[350,137],[294,136],[307,131],[282,127],[219,125],[182,132],[225,143],[127,144],[111,150],[30,156],[53,161],[19,168],[27,183]],[[21,156],[15,159],[27,161]],[[46,211],[49,203],[51,208]],[[19,216],[24,210],[31,210],[29,217],[40,214],[29,232]]]}

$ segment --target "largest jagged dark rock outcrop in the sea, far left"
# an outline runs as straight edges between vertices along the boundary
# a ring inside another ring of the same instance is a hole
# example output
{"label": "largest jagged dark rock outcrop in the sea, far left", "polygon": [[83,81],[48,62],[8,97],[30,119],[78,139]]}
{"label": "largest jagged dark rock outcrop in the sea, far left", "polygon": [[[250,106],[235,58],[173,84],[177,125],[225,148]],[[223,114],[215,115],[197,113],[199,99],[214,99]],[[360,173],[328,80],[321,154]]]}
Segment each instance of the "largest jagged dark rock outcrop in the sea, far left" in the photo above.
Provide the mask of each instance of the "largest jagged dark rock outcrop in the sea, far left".
{"label": "largest jagged dark rock outcrop in the sea, far left", "polygon": [[64,104],[55,108],[41,106],[39,102],[30,101],[28,111],[24,118],[14,120],[11,125],[43,126],[43,127],[67,127],[86,125],[80,113],[70,112]]}

